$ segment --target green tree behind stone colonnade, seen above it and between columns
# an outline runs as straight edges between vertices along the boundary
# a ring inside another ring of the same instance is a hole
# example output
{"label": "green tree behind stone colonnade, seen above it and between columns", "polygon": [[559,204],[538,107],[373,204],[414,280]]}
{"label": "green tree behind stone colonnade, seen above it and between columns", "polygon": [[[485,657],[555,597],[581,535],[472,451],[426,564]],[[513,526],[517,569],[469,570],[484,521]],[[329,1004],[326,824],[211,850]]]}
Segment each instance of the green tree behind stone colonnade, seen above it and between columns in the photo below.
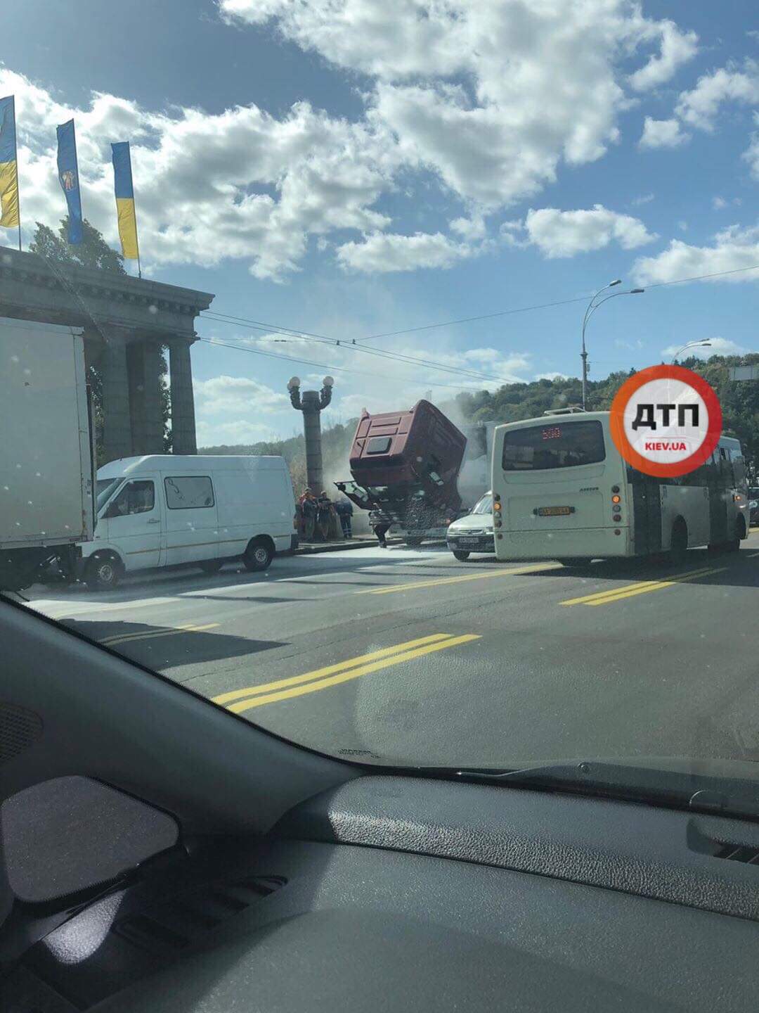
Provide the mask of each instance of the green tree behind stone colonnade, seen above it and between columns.
{"label": "green tree behind stone colonnade, seen above it and between columns", "polygon": [[[85,218],[82,223],[82,242],[77,245],[69,243],[67,236],[69,230],[68,216],[64,218],[59,226],[58,232],[54,232],[49,225],[41,222],[36,223],[34,237],[29,243],[29,252],[36,253],[54,268],[58,265],[76,264],[79,267],[90,267],[95,270],[105,270],[112,275],[125,275],[123,267],[123,257],[105,242],[102,234]],[[85,304],[86,305],[86,304]],[[168,367],[166,355],[161,349],[159,359],[159,386],[161,393],[161,413],[163,416],[163,444],[164,450],[171,450],[171,430],[169,428],[169,417],[171,415],[171,393],[166,374]],[[92,392],[93,412],[95,416],[95,433],[97,434],[97,458],[98,464],[102,463],[102,378],[97,366],[88,366],[87,382]]]}

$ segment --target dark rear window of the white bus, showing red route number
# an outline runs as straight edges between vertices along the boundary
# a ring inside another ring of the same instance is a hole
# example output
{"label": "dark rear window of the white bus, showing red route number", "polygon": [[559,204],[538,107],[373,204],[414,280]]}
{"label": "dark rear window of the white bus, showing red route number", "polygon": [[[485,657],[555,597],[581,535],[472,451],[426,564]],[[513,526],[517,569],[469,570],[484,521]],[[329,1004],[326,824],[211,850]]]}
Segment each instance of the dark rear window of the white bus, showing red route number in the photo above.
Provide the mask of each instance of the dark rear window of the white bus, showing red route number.
{"label": "dark rear window of the white bus, showing red route number", "polygon": [[504,471],[543,471],[597,464],[606,456],[603,428],[596,421],[546,422],[507,433]]}

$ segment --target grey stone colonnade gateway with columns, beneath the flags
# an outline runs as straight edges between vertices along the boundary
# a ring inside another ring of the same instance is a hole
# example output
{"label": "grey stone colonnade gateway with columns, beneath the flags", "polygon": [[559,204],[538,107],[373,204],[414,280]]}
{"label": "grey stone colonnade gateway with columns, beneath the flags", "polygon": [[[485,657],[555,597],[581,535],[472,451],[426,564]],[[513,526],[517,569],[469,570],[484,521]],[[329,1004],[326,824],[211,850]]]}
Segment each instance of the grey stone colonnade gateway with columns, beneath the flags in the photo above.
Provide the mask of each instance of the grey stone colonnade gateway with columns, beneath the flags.
{"label": "grey stone colonnade gateway with columns, beneath the flags", "polygon": [[84,328],[85,360],[102,380],[105,461],[163,453],[160,356],[169,349],[175,454],[196,454],[190,345],[214,296],[0,247],[0,316]]}

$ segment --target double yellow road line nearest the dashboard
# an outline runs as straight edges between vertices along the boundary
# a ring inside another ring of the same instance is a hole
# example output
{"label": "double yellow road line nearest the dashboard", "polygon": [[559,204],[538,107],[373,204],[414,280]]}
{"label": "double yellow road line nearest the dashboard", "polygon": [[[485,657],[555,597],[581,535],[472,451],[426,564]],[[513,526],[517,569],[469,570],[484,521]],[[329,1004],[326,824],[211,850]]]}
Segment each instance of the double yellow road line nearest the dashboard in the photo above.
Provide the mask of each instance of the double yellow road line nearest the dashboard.
{"label": "double yellow road line nearest the dashboard", "polygon": [[262,686],[249,686],[244,690],[222,693],[221,696],[214,697],[213,700],[214,703],[222,704],[228,710],[241,714],[244,710],[250,710],[251,707],[262,707],[267,703],[276,703],[277,700],[290,700],[292,697],[304,696],[306,693],[316,693],[317,690],[326,690],[330,686],[347,683],[351,679],[358,679],[359,676],[366,676],[380,669],[388,669],[393,665],[410,661],[415,657],[423,657],[436,650],[446,650],[448,647],[455,647],[460,643],[470,643],[472,640],[479,639],[479,635],[474,633],[466,633],[461,636],[452,636],[450,633],[432,633],[430,636],[417,637],[415,640],[396,644],[395,647],[382,647],[380,650],[369,651],[368,654],[359,654],[358,657],[348,658],[347,661],[328,665],[323,669],[307,672],[303,676],[292,676],[289,679],[279,679],[274,683],[264,683]]}

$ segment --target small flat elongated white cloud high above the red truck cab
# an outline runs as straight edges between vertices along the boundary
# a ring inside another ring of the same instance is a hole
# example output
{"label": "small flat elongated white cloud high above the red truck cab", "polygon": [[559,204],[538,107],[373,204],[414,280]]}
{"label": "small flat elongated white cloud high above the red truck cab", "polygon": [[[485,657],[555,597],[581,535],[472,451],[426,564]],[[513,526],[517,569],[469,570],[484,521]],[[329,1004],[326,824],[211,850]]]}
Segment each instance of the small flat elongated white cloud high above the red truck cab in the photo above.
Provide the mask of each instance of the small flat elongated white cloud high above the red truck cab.
{"label": "small flat elongated white cloud high above the red truck cab", "polygon": [[337,259],[344,270],[386,274],[420,267],[451,267],[475,252],[474,247],[455,243],[440,232],[417,232],[414,236],[375,232],[364,237],[363,242],[338,246]]}

